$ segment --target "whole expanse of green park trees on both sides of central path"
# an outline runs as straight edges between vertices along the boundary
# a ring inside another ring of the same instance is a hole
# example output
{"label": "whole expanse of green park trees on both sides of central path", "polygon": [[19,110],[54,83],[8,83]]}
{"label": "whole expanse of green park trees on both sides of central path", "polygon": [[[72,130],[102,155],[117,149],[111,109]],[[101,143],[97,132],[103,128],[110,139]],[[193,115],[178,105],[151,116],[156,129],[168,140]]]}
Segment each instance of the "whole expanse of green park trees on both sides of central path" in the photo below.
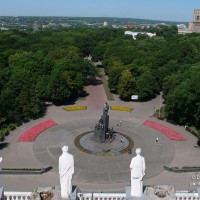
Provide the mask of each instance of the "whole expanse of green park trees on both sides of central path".
{"label": "whole expanse of green park trees on both sides of central path", "polygon": [[164,92],[167,117],[199,126],[200,35],[178,35],[176,26],[148,29],[157,36],[124,35],[124,29],[0,32],[0,125],[41,116],[44,102],[83,93],[101,60],[109,87],[122,99],[146,101]]}

